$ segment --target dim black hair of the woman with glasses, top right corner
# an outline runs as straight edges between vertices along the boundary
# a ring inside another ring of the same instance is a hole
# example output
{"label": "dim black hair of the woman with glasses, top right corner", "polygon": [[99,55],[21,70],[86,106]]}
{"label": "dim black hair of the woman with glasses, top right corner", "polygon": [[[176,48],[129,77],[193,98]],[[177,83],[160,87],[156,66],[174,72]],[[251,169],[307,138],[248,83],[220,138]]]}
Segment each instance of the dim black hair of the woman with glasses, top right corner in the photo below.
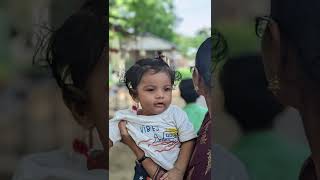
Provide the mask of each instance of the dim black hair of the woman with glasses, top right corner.
{"label": "dim black hair of the woman with glasses, top right corner", "polygon": [[320,1],[272,0],[281,37],[296,49],[302,71],[320,86]]}

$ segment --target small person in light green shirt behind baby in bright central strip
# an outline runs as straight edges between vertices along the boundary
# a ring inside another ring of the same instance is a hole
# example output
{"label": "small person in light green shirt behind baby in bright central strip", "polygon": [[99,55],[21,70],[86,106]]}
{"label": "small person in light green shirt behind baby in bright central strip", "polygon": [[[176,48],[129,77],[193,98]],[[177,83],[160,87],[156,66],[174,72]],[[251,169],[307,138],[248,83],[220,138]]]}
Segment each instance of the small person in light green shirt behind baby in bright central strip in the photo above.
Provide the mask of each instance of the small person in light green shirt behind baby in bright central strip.
{"label": "small person in light green shirt behind baby in bright central strip", "polygon": [[187,113],[194,130],[199,131],[208,109],[196,103],[199,95],[194,89],[192,79],[183,79],[179,84],[180,96],[186,102],[183,110]]}

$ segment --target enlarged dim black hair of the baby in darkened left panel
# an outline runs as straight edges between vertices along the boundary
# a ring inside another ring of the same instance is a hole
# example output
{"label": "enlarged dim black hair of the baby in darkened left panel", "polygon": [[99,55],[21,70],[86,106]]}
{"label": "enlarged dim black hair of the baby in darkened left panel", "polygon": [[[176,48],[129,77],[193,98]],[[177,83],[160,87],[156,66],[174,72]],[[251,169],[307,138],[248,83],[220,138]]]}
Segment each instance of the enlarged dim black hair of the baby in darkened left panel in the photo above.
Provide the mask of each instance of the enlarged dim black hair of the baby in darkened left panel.
{"label": "enlarged dim black hair of the baby in darkened left panel", "polygon": [[107,46],[106,12],[105,2],[87,1],[45,45],[44,60],[67,103],[86,101],[86,82]]}

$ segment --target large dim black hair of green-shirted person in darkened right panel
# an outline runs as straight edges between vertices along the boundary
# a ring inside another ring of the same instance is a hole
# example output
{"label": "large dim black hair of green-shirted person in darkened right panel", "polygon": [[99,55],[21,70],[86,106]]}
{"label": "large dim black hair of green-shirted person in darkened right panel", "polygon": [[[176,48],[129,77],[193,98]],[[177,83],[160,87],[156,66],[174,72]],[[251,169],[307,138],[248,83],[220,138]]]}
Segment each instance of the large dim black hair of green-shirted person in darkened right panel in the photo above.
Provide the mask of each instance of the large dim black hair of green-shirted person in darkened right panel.
{"label": "large dim black hair of green-shirted person in darkened right panel", "polygon": [[225,110],[244,132],[273,127],[275,116],[284,107],[268,90],[262,58],[255,54],[233,57],[220,72]]}

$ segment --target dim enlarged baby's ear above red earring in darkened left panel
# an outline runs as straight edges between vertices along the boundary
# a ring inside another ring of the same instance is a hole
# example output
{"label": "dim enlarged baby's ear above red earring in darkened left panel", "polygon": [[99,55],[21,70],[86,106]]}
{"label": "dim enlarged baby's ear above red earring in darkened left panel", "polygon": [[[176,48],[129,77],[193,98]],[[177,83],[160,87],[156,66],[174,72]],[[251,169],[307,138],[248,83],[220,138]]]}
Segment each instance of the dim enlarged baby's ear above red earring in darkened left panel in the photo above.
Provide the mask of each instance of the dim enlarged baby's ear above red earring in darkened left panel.
{"label": "dim enlarged baby's ear above red earring in darkened left panel", "polygon": [[84,128],[91,129],[94,127],[94,122],[89,118],[89,110],[86,104],[69,103],[67,105],[74,119]]}

